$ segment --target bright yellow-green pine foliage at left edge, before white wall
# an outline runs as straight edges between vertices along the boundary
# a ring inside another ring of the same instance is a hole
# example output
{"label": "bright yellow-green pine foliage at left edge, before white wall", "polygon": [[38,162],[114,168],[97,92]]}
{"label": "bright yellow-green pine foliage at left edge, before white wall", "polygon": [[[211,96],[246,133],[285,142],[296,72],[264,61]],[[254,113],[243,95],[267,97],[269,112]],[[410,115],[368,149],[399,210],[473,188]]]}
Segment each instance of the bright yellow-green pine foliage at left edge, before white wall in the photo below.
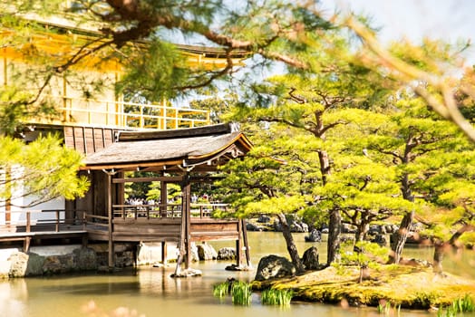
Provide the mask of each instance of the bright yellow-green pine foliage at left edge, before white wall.
{"label": "bright yellow-green pine foliage at left edge, before white wall", "polygon": [[63,147],[52,135],[29,144],[19,139],[0,138],[0,198],[15,200],[29,197],[24,207],[33,207],[56,197],[82,197],[89,187],[85,177],[78,177],[82,157]]}

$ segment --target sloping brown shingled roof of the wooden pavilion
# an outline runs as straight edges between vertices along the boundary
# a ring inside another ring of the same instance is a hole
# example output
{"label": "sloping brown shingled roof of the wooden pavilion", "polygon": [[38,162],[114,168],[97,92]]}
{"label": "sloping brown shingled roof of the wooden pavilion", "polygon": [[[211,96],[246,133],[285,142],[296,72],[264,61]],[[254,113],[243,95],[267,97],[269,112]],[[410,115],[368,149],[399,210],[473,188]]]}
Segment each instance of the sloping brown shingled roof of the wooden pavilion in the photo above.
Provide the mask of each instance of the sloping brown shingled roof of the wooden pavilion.
{"label": "sloping brown shingled roof of the wooden pavilion", "polygon": [[201,164],[231,152],[232,155],[244,155],[250,148],[246,136],[228,125],[123,132],[117,142],[87,156],[84,163],[85,169]]}

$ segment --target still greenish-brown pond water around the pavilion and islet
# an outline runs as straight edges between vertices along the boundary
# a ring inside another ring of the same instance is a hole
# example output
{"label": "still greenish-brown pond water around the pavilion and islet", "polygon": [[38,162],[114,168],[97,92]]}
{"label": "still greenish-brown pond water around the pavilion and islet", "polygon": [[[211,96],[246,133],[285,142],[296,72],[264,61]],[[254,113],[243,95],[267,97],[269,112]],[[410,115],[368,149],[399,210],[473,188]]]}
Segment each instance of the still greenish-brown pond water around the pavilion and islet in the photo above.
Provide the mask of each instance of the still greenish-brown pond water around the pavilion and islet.
{"label": "still greenish-brown pond water around the pavilion and islet", "polygon": [[[304,235],[295,235],[302,254],[313,244],[304,242]],[[280,234],[249,233],[254,267],[263,255],[286,255]],[[233,246],[234,242],[211,244],[216,249]],[[325,243],[315,244],[320,261],[325,262]],[[431,248],[412,248],[406,256],[431,259]],[[475,278],[475,253],[464,251],[459,258],[448,258],[447,271]],[[0,316],[64,317],[64,316],[219,316],[219,317],[276,317],[276,316],[382,316],[375,308],[344,309],[321,303],[292,303],[279,308],[260,304],[253,294],[249,307],[234,306],[229,300],[220,302],[212,295],[212,286],[228,277],[250,281],[256,274],[228,272],[228,262],[208,261],[193,264],[202,276],[173,279],[174,265],[165,268],[141,267],[137,272],[126,270],[118,274],[59,275],[25,278],[0,282]],[[85,307],[95,307],[85,312]],[[122,314],[121,314],[122,313]],[[393,314],[394,316],[396,314]],[[402,311],[402,316],[437,316],[435,312]],[[465,315],[467,316],[467,314]]]}

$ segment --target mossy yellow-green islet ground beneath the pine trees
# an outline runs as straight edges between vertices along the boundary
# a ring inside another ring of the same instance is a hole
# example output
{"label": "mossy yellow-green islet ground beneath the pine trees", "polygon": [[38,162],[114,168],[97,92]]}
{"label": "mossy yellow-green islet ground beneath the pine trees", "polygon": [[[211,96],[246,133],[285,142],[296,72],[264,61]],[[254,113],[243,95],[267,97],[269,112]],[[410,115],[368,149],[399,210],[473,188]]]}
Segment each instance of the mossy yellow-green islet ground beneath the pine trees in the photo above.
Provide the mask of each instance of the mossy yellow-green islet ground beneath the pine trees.
{"label": "mossy yellow-green islet ground beneath the pine trees", "polygon": [[356,266],[330,266],[321,271],[264,282],[254,281],[254,290],[270,287],[291,289],[294,300],[377,306],[380,303],[409,309],[447,306],[469,294],[475,299],[475,281],[453,274],[435,274],[431,268],[378,265],[362,283]]}

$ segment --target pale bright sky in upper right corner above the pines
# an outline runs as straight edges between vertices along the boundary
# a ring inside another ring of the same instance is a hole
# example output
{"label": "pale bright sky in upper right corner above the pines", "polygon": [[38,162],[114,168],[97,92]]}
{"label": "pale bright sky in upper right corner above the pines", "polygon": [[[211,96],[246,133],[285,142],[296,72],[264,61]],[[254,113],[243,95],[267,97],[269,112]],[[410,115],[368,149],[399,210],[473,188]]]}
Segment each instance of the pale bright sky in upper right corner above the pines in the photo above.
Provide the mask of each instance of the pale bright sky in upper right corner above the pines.
{"label": "pale bright sky in upper right corner above the pines", "polygon": [[[422,37],[450,43],[471,40],[475,45],[474,0],[322,0],[324,8],[333,13],[334,6],[348,12],[373,17],[373,24],[382,28],[383,42],[408,38],[419,43]],[[475,62],[475,49],[467,52]]]}

